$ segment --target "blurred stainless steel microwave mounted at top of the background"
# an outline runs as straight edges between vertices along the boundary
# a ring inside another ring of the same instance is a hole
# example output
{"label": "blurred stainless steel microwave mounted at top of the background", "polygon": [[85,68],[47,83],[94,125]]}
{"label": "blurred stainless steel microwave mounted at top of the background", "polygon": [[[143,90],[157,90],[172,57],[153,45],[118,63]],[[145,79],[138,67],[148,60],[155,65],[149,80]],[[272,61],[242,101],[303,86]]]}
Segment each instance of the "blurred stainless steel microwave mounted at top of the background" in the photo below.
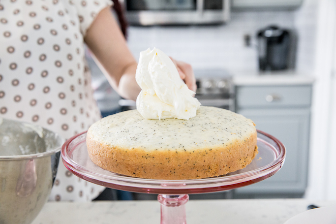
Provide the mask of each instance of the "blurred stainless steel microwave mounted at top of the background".
{"label": "blurred stainless steel microwave mounted at top of the background", "polygon": [[123,0],[130,25],[221,24],[230,18],[230,0]]}

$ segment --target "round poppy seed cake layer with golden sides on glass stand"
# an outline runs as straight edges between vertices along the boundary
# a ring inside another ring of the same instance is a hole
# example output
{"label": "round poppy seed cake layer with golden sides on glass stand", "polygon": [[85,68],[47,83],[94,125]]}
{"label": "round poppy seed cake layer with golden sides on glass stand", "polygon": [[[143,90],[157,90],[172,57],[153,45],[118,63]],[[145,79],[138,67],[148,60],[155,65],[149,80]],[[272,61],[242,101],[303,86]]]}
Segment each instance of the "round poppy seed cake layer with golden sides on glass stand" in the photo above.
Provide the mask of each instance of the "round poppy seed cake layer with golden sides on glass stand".
{"label": "round poppy seed cake layer with golden sides on glass stand", "polygon": [[110,115],[89,128],[87,147],[103,169],[165,180],[224,175],[244,168],[258,154],[250,119],[206,106],[189,120],[149,120],[137,110]]}

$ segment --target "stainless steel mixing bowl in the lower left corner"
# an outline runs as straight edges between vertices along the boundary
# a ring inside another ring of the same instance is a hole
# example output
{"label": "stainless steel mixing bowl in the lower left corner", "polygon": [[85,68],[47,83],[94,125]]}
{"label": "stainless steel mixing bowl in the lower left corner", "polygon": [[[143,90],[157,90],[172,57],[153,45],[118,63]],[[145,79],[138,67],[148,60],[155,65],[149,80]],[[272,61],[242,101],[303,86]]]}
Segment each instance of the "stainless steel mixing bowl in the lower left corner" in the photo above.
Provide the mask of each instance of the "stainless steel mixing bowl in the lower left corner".
{"label": "stainless steel mixing bowl in the lower left corner", "polygon": [[0,224],[30,224],[48,200],[64,139],[0,118]]}

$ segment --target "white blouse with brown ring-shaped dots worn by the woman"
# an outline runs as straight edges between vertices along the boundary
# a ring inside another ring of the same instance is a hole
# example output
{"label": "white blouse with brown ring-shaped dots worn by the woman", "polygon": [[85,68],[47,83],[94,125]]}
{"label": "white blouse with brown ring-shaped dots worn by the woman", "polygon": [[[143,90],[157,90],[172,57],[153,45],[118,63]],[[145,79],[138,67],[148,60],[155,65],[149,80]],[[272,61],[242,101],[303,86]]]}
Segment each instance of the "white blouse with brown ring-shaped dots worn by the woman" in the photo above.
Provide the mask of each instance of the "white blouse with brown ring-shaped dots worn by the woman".
{"label": "white blouse with brown ring-shaped dots worn by the woman", "polygon": [[[83,37],[110,0],[0,1],[0,117],[69,138],[100,119]],[[103,188],[60,162],[50,200],[86,201]]]}

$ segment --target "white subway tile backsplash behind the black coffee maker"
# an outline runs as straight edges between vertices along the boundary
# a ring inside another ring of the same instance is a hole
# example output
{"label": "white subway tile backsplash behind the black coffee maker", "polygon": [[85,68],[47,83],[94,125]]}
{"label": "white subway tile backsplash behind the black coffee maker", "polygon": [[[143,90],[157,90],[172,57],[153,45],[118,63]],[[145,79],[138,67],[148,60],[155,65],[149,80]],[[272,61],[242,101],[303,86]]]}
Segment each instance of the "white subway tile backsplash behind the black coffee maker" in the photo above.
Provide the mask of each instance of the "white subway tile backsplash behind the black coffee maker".
{"label": "white subway tile backsplash behind the black coffee maker", "polygon": [[[195,69],[257,71],[256,33],[274,24],[296,30],[296,68],[310,71],[314,67],[316,2],[305,0],[295,11],[234,11],[231,20],[220,26],[130,27],[128,46],[136,60],[140,51],[157,47]],[[251,35],[250,47],[244,46],[245,34]]]}

